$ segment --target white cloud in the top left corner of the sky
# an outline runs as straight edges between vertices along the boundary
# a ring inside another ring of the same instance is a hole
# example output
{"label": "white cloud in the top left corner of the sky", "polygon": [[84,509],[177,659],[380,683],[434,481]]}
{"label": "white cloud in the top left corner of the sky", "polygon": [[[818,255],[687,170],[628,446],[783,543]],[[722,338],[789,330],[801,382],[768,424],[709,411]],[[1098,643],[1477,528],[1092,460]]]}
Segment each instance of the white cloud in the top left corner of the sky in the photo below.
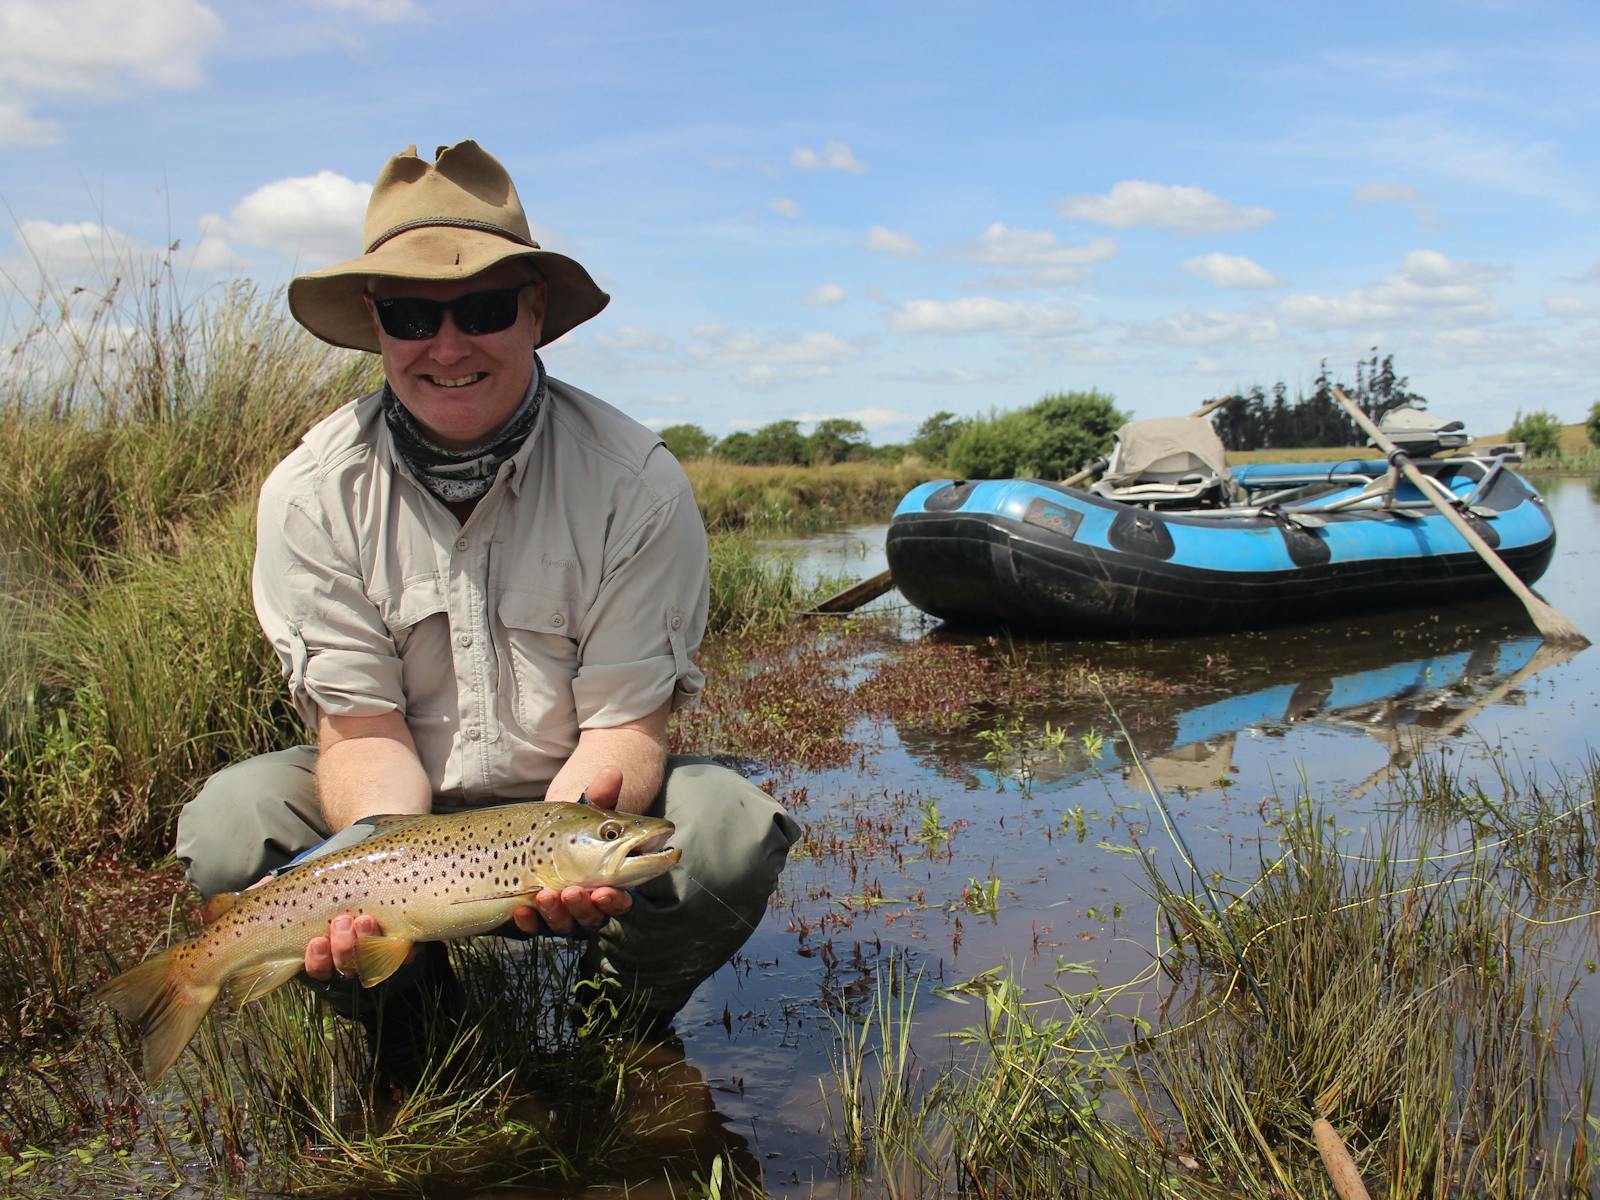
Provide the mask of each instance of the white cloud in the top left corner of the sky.
{"label": "white cloud in the top left corner of the sky", "polygon": [[0,144],[59,138],[38,118],[38,94],[96,101],[128,85],[192,88],[222,21],[198,0],[6,0],[0,3]]}

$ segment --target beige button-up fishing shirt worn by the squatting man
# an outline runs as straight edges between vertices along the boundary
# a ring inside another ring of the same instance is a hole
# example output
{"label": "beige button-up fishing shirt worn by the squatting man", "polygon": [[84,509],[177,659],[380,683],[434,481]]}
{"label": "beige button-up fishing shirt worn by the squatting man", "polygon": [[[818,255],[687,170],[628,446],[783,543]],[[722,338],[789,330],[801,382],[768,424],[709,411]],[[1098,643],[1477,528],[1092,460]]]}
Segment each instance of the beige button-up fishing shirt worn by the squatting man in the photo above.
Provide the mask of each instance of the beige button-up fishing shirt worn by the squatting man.
{"label": "beige button-up fishing shirt worn by the squatting man", "polygon": [[320,421],[261,488],[254,602],[307,723],[400,710],[458,800],[539,797],[579,730],[704,685],[688,478],[557,379],[466,525],[397,459],[381,392]]}

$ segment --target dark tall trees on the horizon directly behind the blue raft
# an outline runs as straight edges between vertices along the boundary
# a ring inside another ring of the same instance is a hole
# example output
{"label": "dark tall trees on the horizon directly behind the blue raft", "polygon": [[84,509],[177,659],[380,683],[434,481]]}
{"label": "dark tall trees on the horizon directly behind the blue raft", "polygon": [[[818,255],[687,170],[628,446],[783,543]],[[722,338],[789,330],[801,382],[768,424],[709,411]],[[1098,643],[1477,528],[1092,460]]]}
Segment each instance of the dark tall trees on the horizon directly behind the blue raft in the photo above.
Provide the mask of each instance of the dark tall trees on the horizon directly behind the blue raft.
{"label": "dark tall trees on the horizon directly behind the blue raft", "polygon": [[1374,350],[1371,358],[1355,363],[1354,384],[1334,379],[1325,358],[1309,395],[1296,392],[1290,400],[1288,384],[1282,381],[1270,389],[1253,387],[1213,411],[1211,424],[1229,450],[1365,445],[1366,435],[1333,398],[1336,386],[1373,421],[1406,405],[1427,406],[1410,381],[1395,373],[1395,357],[1379,358]]}

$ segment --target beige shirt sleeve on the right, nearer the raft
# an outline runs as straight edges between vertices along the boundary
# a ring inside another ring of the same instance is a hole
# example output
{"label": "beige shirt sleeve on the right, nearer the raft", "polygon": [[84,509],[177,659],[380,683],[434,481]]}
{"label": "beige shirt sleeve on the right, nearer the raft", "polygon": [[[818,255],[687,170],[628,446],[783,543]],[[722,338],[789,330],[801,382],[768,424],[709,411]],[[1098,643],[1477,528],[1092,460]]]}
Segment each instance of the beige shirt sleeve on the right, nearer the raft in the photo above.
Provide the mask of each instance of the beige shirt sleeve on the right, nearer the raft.
{"label": "beige shirt sleeve on the right, nearer the raft", "polygon": [[656,486],[642,490],[648,502],[608,547],[578,635],[573,701],[586,730],[638,720],[667,701],[682,707],[706,685],[694,664],[709,598],[706,526],[664,448],[646,472]]}

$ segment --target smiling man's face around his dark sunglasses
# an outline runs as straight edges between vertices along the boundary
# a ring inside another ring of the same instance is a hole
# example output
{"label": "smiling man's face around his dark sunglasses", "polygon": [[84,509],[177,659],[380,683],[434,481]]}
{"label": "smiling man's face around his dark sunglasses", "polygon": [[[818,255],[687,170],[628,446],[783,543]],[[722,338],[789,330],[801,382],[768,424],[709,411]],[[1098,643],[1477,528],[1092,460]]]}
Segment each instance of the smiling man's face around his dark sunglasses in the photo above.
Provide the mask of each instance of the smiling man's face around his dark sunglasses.
{"label": "smiling man's face around his dark sunglasses", "polygon": [[[378,280],[373,294],[448,301],[490,288],[515,288],[526,278],[517,262],[501,262],[472,278],[453,283]],[[533,379],[533,347],[544,325],[544,283],[522,290],[517,320],[498,333],[466,334],[453,314],[445,314],[438,333],[419,341],[390,338],[378,322],[373,296],[366,307],[378,328],[384,374],[394,394],[427,434],[443,446],[466,450],[486,442],[504,426]]]}

